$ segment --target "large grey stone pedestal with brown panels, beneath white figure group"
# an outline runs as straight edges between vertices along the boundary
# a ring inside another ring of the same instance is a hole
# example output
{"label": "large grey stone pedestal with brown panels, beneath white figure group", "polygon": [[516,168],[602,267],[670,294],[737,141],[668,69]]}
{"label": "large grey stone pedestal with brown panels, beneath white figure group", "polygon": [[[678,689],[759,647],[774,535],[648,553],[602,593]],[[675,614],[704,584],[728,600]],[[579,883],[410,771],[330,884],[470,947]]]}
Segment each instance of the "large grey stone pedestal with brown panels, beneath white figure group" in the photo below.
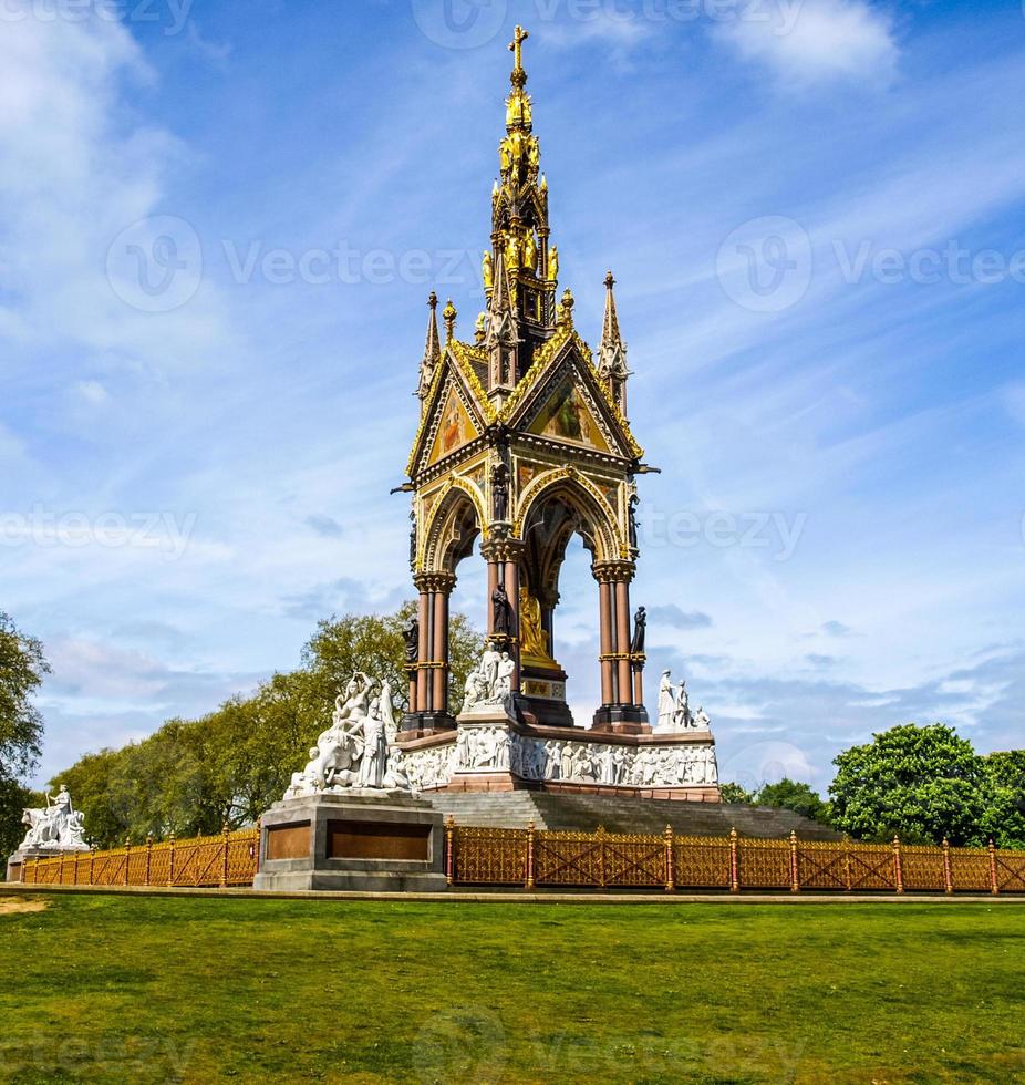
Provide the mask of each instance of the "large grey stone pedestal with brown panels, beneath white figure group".
{"label": "large grey stone pedestal with brown panels, beneath white figure group", "polygon": [[446,888],[444,818],[407,792],[349,788],[289,798],[261,824],[255,889]]}

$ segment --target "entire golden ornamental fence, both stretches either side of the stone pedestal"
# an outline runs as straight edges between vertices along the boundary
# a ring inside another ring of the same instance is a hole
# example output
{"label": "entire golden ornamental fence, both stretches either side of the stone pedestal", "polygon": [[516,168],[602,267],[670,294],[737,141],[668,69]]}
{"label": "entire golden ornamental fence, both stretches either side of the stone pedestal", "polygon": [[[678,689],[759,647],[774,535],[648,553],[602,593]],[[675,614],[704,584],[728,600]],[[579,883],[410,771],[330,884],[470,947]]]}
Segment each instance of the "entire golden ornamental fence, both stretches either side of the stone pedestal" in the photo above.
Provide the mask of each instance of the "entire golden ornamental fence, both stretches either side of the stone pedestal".
{"label": "entire golden ornamental fence, both stretches either side of the stone pedestal", "polygon": [[[25,860],[37,886],[251,886],[259,827]],[[445,826],[449,885],[763,892],[1025,893],[1025,851],[852,840]]]}

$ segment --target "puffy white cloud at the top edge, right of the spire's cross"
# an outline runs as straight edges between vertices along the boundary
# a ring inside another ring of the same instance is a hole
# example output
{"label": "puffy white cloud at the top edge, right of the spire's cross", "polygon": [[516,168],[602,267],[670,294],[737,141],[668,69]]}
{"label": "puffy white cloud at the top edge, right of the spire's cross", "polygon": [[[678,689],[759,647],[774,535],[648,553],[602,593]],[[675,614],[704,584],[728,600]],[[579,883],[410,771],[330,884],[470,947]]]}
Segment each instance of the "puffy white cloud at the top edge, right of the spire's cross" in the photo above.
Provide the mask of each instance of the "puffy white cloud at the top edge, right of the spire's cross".
{"label": "puffy white cloud at the top edge, right of the spire's cross", "polygon": [[719,37],[797,89],[830,81],[886,85],[897,72],[893,21],[863,0],[806,0],[781,21],[738,19]]}

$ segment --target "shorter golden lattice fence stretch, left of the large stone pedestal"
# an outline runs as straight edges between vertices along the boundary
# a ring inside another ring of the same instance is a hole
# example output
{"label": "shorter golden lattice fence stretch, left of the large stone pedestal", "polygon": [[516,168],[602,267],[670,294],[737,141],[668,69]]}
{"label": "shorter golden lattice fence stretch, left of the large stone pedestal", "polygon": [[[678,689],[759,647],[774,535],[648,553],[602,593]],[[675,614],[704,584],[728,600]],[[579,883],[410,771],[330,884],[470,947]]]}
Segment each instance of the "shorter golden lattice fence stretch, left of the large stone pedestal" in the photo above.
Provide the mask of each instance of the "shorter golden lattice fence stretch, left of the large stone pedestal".
{"label": "shorter golden lattice fence stretch, left of the large stone pedestal", "polygon": [[110,851],[28,858],[21,880],[34,886],[251,886],[258,869],[259,826],[219,836],[145,844]]}

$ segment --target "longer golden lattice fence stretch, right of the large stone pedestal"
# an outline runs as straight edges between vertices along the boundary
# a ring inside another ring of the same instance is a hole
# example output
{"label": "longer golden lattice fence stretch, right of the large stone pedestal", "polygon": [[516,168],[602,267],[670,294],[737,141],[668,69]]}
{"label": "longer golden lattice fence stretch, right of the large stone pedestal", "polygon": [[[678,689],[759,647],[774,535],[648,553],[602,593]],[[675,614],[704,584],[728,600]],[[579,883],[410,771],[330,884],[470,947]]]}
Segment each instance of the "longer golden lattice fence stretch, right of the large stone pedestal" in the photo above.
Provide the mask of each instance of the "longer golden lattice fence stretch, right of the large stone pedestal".
{"label": "longer golden lattice fence stretch, right of the large stone pedestal", "polygon": [[457,886],[785,892],[1025,892],[1025,851],[741,837],[549,833],[446,824]]}

